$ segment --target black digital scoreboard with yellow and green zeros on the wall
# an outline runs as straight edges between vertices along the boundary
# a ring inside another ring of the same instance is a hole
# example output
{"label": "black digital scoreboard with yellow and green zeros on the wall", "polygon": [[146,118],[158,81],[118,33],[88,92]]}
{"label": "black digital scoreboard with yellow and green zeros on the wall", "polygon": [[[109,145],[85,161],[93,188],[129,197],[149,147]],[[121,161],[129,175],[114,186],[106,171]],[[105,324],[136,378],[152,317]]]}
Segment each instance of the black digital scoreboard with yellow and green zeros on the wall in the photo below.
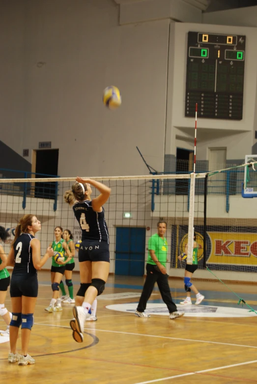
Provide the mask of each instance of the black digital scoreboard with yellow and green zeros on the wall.
{"label": "black digital scoreboard with yellow and green zeros on the wall", "polygon": [[243,118],[246,36],[188,32],[185,116]]}

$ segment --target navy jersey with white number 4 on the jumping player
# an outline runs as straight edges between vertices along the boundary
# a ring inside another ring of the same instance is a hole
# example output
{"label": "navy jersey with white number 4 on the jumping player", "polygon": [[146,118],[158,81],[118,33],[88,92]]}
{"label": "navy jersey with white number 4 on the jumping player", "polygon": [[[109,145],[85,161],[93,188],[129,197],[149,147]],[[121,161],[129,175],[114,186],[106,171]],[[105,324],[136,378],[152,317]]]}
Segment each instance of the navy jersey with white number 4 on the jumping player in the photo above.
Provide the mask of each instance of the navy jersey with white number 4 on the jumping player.
{"label": "navy jersey with white number 4 on the jumping player", "polygon": [[91,200],[86,200],[76,203],[73,206],[73,211],[82,230],[82,241],[106,241],[109,244],[109,233],[103,207],[102,212],[95,212]]}

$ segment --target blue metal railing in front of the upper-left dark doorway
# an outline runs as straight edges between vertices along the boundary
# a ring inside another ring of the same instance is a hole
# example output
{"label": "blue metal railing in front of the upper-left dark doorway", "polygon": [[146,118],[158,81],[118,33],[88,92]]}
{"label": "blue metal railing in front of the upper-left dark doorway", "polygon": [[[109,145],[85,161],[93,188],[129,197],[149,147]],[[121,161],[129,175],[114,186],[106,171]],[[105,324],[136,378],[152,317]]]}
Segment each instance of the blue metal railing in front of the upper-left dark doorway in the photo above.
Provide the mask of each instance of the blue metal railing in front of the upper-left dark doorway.
{"label": "blue metal railing in front of the upper-left dark doorway", "polygon": [[[17,175],[19,177],[17,177]],[[7,177],[8,176],[8,177]],[[39,174],[0,168],[0,194],[23,196],[22,207],[26,208],[27,197],[54,200],[57,210],[58,182],[37,182],[37,177],[59,177],[57,175]],[[1,183],[1,178],[35,178],[33,182]]]}

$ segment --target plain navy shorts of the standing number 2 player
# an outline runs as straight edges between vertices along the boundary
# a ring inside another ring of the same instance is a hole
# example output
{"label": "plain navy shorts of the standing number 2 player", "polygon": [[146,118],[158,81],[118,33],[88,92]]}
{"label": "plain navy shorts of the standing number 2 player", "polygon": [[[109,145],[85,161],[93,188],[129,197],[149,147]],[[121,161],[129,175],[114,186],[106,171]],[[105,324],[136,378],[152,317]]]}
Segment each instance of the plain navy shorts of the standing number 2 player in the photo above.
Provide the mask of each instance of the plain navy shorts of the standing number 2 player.
{"label": "plain navy shorts of the standing number 2 player", "polygon": [[11,297],[37,297],[38,294],[38,281],[37,275],[14,275],[12,274],[10,295]]}

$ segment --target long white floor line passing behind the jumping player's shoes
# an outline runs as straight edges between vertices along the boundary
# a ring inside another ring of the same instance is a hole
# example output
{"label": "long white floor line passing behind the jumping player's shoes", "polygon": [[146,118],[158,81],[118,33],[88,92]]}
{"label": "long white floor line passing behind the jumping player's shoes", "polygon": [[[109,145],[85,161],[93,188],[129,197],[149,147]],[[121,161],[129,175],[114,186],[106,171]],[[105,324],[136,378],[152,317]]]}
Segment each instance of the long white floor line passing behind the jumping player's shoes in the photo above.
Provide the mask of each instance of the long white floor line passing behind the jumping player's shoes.
{"label": "long white floor line passing behind the jumping player's shoes", "polygon": [[[36,324],[36,325],[47,325],[47,326],[59,326],[59,327],[62,327],[62,328],[69,328],[69,326],[64,326],[64,325],[52,325],[52,324],[43,324],[43,323],[34,323],[34,324]],[[159,338],[159,339],[193,341],[193,342],[195,342],[195,343],[207,343],[207,344],[230,345],[230,346],[232,346],[232,347],[244,347],[244,348],[254,348],[254,349],[257,349],[257,347],[256,347],[256,346],[253,346],[253,345],[241,345],[241,344],[220,343],[220,342],[218,342],[218,341],[206,341],[206,340],[182,339],[182,338],[178,338],[178,337],[156,336],[156,335],[147,335],[147,334],[144,334],[144,333],[132,333],[132,332],[111,331],[111,330],[107,330],[107,329],[97,329],[97,328],[84,328],[84,330],[99,331],[99,332],[111,332],[111,333],[121,333],[121,334],[125,334],[125,335],[156,337],[156,338]]]}

